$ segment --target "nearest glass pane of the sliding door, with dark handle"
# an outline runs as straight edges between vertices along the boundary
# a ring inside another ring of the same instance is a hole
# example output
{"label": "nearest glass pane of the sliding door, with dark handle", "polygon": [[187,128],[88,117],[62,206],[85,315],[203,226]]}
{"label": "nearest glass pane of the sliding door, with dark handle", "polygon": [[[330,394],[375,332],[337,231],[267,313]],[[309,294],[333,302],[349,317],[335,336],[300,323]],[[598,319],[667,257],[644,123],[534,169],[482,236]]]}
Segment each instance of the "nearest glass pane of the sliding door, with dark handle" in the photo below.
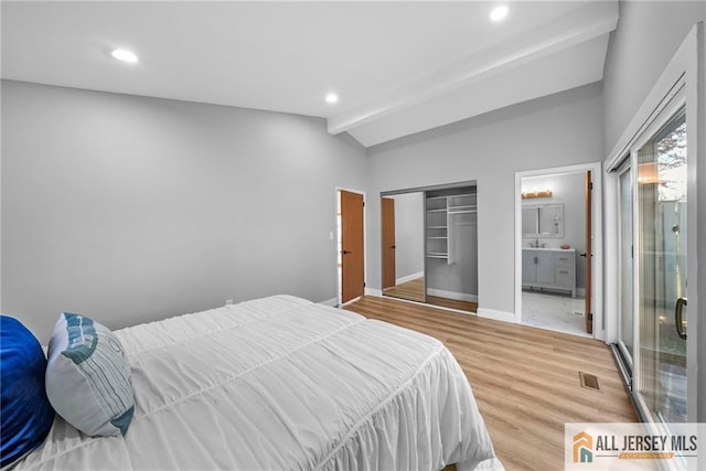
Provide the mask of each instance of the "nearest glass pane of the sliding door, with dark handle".
{"label": "nearest glass pane of the sliding door, with dark handle", "polygon": [[660,421],[686,421],[686,116],[637,151],[638,395]]}

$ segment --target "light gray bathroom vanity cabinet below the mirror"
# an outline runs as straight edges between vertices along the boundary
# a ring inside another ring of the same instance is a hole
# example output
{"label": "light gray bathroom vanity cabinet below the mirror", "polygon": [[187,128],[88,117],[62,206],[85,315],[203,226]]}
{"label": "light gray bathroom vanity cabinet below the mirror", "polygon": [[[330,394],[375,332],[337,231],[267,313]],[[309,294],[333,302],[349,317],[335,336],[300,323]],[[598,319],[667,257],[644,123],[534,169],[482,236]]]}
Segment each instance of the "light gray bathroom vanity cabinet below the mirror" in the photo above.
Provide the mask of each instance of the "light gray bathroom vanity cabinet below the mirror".
{"label": "light gray bathroom vanity cabinet below the mirror", "polygon": [[576,298],[576,250],[523,248],[522,286],[566,290]]}

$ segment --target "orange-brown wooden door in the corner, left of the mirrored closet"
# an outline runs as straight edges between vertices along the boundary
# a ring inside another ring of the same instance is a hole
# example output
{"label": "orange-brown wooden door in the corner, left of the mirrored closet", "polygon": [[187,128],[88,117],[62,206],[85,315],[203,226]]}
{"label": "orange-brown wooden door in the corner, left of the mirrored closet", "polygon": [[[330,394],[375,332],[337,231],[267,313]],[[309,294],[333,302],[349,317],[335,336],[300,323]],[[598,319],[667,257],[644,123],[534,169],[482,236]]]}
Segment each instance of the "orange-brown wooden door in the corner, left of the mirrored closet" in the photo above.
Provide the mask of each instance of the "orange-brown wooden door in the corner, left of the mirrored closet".
{"label": "orange-brown wooden door in the corner, left of the mirrored closet", "polygon": [[363,296],[363,195],[341,191],[341,302]]}

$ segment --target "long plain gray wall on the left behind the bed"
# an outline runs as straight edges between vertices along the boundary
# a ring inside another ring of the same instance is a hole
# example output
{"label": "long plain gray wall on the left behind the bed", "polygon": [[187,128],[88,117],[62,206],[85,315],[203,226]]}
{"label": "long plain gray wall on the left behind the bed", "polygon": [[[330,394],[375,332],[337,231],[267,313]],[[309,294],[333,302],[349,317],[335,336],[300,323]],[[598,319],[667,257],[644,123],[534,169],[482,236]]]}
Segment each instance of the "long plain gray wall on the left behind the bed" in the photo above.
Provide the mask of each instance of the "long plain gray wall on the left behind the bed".
{"label": "long plain gray wall on the left behind the bed", "polygon": [[325,121],[2,82],[2,312],[120,328],[271,293],[334,298],[335,188],[365,150]]}

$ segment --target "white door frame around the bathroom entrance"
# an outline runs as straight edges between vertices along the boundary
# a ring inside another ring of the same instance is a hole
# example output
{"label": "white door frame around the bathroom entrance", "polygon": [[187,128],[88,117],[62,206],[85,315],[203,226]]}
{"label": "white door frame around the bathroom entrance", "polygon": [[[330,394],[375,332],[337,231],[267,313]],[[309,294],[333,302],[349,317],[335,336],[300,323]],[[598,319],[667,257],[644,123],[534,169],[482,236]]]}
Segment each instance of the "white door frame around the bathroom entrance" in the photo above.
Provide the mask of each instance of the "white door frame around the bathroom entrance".
{"label": "white door frame around the bathroom entrance", "polygon": [[603,310],[603,226],[602,226],[602,170],[601,162],[579,163],[576,165],[515,172],[515,322],[522,322],[522,179],[565,173],[585,173],[591,171],[593,191],[592,206],[592,310],[595,339],[606,339],[606,319]]}

